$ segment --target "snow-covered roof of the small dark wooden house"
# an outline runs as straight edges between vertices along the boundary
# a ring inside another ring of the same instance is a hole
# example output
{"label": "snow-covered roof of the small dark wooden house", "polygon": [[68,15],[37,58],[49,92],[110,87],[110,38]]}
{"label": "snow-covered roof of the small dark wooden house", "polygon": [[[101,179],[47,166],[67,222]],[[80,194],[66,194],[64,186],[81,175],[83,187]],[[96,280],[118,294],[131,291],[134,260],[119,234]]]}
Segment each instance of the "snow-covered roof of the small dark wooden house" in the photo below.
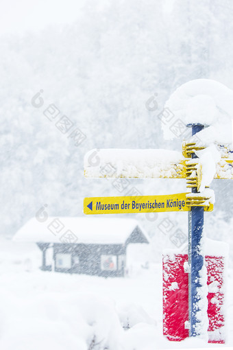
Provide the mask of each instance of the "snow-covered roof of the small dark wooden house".
{"label": "snow-covered roof of the small dark wooden house", "polygon": [[49,217],[45,222],[32,218],[16,232],[13,240],[77,244],[125,244],[127,240],[149,243],[147,234],[136,220],[77,217]]}

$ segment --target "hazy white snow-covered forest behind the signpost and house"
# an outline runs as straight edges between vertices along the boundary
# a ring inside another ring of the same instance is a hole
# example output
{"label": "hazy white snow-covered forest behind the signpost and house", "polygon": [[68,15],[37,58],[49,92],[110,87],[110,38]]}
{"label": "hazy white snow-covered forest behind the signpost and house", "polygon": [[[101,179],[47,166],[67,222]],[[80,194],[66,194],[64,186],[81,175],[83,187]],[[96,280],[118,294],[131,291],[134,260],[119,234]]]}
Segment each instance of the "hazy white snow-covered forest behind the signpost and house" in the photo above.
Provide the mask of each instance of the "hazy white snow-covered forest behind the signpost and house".
{"label": "hazy white snow-covered forest behind the signpost and house", "polygon": [[[183,180],[130,180],[120,192],[112,180],[84,178],[84,154],[92,148],[181,150],[181,139],[164,140],[158,115],[188,80],[211,78],[233,89],[232,18],[230,0],[176,0],[172,8],[163,0],[88,0],[75,23],[2,36],[1,234],[12,237],[45,204],[49,215],[80,216],[86,196],[122,196],[132,187],[151,195],[185,191]],[[32,98],[40,90],[43,104],[36,108]],[[152,96],[156,107],[148,110]],[[70,132],[63,134],[43,113],[51,104],[73,123]],[[77,146],[69,137],[76,128],[85,135]],[[207,235],[232,244],[232,183],[214,180],[212,188]],[[179,215],[169,220],[186,233],[187,215]],[[161,248],[173,247],[159,228],[166,213],[118,217],[142,224],[155,259]]]}

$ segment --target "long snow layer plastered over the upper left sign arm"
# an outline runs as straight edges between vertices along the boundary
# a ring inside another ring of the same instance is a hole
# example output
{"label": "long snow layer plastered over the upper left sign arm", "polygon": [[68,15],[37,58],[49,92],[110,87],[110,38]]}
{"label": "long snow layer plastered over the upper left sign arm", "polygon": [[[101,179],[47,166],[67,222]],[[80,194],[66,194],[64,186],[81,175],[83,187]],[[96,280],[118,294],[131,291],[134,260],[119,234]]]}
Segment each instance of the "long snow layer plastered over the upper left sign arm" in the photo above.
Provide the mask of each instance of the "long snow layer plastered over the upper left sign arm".
{"label": "long snow layer plastered over the upper left sign arm", "polygon": [[182,154],[173,150],[95,149],[86,153],[84,170],[92,178],[169,178],[181,160]]}

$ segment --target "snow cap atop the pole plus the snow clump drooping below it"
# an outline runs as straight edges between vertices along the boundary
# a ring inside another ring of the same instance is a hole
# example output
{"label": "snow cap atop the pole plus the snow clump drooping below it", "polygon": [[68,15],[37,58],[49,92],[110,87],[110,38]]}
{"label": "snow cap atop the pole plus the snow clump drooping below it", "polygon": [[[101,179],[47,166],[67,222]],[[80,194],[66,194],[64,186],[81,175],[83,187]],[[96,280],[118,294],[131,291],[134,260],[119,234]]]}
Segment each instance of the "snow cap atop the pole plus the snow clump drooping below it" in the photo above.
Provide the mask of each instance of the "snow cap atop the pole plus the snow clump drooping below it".
{"label": "snow cap atop the pole plus the snow clump drooping below it", "polygon": [[[199,191],[204,191],[212,182],[217,163],[221,161],[216,143],[232,143],[233,91],[214,80],[191,80],[169,97],[165,108],[170,110],[173,119],[186,126],[201,124],[206,127],[187,140],[205,147],[195,151],[202,166]],[[162,117],[162,130],[165,139],[174,139],[175,134],[167,124],[166,115]]]}

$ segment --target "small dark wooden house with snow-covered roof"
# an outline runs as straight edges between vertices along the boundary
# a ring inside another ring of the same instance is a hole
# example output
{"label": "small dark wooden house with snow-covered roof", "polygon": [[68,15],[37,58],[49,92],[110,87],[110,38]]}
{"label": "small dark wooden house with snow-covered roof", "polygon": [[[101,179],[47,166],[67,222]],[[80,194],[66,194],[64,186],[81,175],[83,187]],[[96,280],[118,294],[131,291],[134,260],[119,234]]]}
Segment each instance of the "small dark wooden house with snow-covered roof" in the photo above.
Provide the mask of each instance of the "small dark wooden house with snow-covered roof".
{"label": "small dark wooden house with snow-covered roof", "polygon": [[[149,243],[132,219],[32,218],[16,235],[16,242],[35,242],[42,251],[41,270],[123,277],[127,245]],[[47,251],[52,250],[48,262]]]}

